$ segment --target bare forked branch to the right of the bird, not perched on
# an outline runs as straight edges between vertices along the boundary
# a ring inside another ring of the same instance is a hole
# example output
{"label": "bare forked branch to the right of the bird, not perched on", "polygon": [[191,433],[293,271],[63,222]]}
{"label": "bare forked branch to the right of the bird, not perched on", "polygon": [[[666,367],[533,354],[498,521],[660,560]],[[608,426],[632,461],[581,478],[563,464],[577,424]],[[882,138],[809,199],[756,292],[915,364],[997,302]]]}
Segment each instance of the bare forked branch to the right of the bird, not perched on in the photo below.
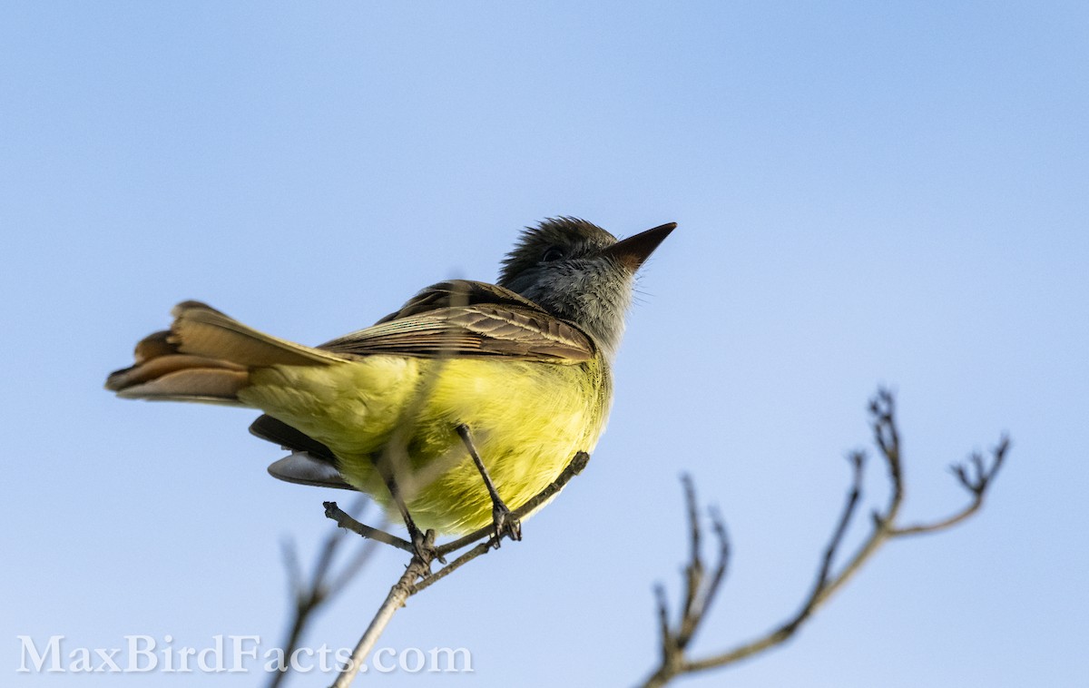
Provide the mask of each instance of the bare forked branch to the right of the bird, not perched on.
{"label": "bare forked branch to the right of the bird, not perched on", "polygon": [[736,646],[730,650],[719,652],[705,658],[692,659],[686,650],[692,637],[698,630],[700,624],[707,618],[710,600],[713,599],[724,580],[726,564],[730,557],[729,543],[725,538],[725,528],[722,519],[717,514],[711,515],[711,525],[718,535],[719,553],[715,575],[710,579],[705,578],[703,564],[700,561],[700,535],[699,519],[697,517],[696,495],[692,479],[687,476],[683,478],[685,486],[685,499],[687,501],[692,553],[687,568],[685,569],[685,603],[681,610],[681,616],[675,624],[671,624],[664,589],[657,586],[654,589],[658,604],[658,622],[661,632],[661,659],[658,668],[641,684],[646,687],[664,686],[673,678],[683,674],[707,671],[714,667],[727,666],[773,648],[791,638],[798,628],[805,624],[813,613],[825,603],[840,588],[842,588],[852,576],[891,539],[937,532],[958,524],[975,514],[983,504],[983,499],[988,489],[993,483],[994,477],[1005,458],[1010,449],[1010,439],[1002,437],[999,444],[992,451],[992,459],[988,464],[983,457],[972,454],[966,464],[953,467],[953,472],[960,484],[971,495],[970,503],[947,518],[929,524],[916,524],[901,527],[896,525],[900,509],[904,501],[903,467],[901,464],[900,431],[896,428],[895,404],[893,395],[888,390],[879,390],[870,402],[870,423],[873,432],[873,442],[880,451],[885,467],[889,470],[891,489],[889,501],[883,509],[873,513],[871,519],[871,531],[861,545],[852,554],[848,560],[836,569],[835,562],[844,537],[855,520],[858,513],[858,505],[861,500],[861,486],[866,466],[866,454],[854,452],[848,458],[852,465],[852,483],[847,492],[840,518],[824,548],[821,564],[813,581],[812,589],[803,600],[798,611],[790,616],[771,631],[748,642]]}

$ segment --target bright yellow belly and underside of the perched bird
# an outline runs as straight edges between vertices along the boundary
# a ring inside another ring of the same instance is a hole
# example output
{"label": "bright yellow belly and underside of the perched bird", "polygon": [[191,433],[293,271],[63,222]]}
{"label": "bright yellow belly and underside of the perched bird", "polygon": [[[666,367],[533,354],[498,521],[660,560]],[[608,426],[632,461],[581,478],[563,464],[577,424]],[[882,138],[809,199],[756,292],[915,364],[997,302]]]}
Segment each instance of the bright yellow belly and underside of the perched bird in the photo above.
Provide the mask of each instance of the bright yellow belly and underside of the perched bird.
{"label": "bright yellow belly and underside of the perched bird", "polygon": [[512,509],[552,482],[604,429],[607,364],[368,356],[256,371],[238,397],[329,446],[345,480],[382,503],[388,460],[421,528],[465,533],[491,523],[491,501],[456,432],[468,426]]}

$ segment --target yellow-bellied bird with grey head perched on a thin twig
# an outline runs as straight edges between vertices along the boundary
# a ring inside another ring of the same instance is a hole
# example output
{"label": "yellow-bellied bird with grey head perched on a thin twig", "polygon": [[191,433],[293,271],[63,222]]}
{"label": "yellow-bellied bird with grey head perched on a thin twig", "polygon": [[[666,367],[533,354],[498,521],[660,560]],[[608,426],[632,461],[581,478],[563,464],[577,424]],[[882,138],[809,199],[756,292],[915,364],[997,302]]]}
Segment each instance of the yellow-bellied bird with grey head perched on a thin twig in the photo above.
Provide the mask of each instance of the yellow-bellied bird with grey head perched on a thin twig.
{"label": "yellow-bellied bird with grey head perched on a thin twig", "polygon": [[504,509],[597,444],[635,272],[674,226],[617,242],[584,220],[546,220],[498,284],[440,282],[317,347],[184,302],[106,386],[260,409],[250,431],[294,452],[273,476],[363,491],[414,537],[489,524],[518,537]]}

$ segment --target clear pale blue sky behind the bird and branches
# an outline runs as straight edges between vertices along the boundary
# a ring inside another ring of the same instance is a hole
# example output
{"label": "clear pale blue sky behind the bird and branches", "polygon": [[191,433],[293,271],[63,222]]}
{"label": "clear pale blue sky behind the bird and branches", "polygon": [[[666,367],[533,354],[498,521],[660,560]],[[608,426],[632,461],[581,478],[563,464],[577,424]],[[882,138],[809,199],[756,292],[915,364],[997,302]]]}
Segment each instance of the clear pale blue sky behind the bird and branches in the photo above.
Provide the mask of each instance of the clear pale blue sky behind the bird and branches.
{"label": "clear pale blue sky behind the bird and branches", "polygon": [[[174,303],[317,343],[430,282],[492,280],[519,228],[573,214],[680,224],[640,281],[609,431],[524,542],[382,640],[468,648],[476,672],[383,685],[644,676],[651,585],[675,594],[685,553],[682,471],[735,543],[697,653],[772,626],[810,583],[878,384],[898,392],[907,516],[957,507],[946,466],[1007,430],[991,502],[891,544],[784,649],[685,685],[1086,684],[1082,3],[3,14],[3,683],[115,680],[16,675],[17,635],[273,644],[279,543],[305,561],[331,527],[320,503],[341,495],[269,478],[253,414],[101,390]],[[377,558],[309,642],[353,644],[401,560]]]}

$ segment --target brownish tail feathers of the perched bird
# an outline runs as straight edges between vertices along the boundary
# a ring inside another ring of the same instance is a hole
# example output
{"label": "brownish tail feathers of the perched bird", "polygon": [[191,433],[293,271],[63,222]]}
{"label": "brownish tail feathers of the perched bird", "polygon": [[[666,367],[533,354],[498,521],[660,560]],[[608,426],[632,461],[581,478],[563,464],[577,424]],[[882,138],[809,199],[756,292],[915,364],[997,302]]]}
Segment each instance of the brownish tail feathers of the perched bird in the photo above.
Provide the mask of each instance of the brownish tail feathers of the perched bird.
{"label": "brownish tail feathers of the perched bird", "polygon": [[110,373],[106,389],[127,398],[240,404],[238,391],[257,368],[344,360],[258,332],[199,302],[183,302],[172,312],[170,330],[136,344],[136,365]]}

